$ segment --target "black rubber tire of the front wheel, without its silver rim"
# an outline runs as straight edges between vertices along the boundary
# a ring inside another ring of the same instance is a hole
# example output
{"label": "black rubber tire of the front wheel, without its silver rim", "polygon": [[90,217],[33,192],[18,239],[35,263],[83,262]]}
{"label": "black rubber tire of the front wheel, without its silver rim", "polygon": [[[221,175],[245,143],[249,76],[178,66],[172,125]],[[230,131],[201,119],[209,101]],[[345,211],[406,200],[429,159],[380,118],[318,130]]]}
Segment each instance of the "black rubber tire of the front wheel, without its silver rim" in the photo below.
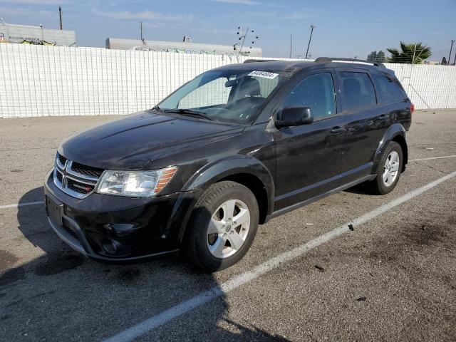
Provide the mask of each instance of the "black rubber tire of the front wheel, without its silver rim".
{"label": "black rubber tire of the front wheel, without its silver rim", "polygon": [[[249,209],[250,226],[247,237],[242,246],[232,256],[217,258],[209,252],[207,246],[207,229],[209,220],[217,208],[229,199],[238,199],[244,202]],[[211,185],[195,205],[195,209],[187,227],[184,250],[192,264],[195,264],[205,271],[217,271],[226,269],[242,259],[249,250],[255,235],[257,234],[259,221],[259,209],[255,195],[244,185],[237,182],[223,181]]]}

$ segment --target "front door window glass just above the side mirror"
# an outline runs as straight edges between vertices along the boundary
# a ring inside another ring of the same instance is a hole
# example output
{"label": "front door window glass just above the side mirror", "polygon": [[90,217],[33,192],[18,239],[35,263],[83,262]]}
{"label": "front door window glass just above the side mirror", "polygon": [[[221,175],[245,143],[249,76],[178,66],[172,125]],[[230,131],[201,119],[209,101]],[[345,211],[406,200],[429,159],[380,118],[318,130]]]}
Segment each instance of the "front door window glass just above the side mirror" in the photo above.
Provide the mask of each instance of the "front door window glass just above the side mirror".
{"label": "front door window glass just above the side mirror", "polygon": [[331,73],[304,78],[286,97],[283,107],[311,108],[314,118],[336,114],[336,93]]}

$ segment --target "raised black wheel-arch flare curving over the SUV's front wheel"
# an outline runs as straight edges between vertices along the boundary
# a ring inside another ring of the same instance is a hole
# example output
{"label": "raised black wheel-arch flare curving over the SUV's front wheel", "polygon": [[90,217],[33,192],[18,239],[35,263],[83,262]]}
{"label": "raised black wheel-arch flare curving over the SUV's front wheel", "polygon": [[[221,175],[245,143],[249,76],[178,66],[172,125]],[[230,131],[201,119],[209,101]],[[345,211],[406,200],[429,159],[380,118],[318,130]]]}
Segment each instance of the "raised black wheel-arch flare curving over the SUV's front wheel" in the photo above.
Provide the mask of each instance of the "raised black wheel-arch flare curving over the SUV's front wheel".
{"label": "raised black wheel-arch flare curving over the SUV's front wheel", "polygon": [[267,197],[266,214],[271,214],[274,211],[274,180],[271,172],[257,158],[247,155],[234,155],[204,165],[185,183],[172,210],[169,232],[175,231],[178,241],[181,242],[193,208],[204,190],[219,180],[240,174],[251,175],[261,181]]}

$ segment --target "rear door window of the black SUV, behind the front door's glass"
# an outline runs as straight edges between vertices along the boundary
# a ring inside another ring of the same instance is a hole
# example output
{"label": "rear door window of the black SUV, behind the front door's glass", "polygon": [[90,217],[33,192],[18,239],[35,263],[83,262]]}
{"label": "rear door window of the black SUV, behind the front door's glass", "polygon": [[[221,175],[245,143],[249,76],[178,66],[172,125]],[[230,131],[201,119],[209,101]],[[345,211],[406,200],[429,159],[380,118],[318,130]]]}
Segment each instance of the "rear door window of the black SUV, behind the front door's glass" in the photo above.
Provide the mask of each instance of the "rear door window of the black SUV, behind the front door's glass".
{"label": "rear door window of the black SUV, behind the front door's glass", "polygon": [[345,98],[345,110],[375,105],[375,90],[367,73],[343,71],[341,75],[341,90]]}

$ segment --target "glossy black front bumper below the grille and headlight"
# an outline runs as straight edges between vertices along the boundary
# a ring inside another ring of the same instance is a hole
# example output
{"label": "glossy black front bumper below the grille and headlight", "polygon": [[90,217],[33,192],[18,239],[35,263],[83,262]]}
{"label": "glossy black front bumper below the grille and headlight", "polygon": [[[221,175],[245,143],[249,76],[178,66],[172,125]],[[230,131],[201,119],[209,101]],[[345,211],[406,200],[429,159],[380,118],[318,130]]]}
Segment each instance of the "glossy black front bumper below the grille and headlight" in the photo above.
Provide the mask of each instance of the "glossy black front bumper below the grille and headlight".
{"label": "glossy black front bumper below the grille and headlight", "polygon": [[152,198],[67,195],[46,176],[46,213],[66,244],[98,261],[141,261],[178,251],[195,193]]}

